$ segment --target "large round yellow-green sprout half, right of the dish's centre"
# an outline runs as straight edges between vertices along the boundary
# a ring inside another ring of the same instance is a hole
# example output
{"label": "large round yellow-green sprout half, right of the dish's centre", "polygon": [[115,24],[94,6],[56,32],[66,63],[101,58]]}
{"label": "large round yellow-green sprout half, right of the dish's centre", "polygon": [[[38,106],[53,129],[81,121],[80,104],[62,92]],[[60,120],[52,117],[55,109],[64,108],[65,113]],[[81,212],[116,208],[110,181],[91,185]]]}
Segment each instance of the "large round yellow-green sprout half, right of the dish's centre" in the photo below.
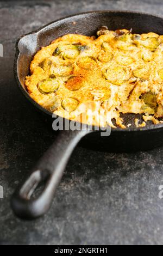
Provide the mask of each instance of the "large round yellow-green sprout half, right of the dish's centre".
{"label": "large round yellow-green sprout half, right of the dish's centre", "polygon": [[130,78],[129,71],[120,65],[110,66],[105,70],[104,76],[110,83],[120,85]]}

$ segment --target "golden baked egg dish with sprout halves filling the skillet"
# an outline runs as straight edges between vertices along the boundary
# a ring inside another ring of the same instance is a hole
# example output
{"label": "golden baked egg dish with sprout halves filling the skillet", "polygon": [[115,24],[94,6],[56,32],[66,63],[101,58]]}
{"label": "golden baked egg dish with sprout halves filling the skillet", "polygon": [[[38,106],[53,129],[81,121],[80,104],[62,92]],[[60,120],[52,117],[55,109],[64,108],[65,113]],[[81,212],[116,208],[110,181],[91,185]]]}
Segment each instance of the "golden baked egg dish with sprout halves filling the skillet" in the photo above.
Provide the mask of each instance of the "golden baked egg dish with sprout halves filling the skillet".
{"label": "golden baked egg dish with sprout halves filling the skillet", "polygon": [[121,113],[142,114],[137,127],[161,123],[163,35],[103,26],[97,36],[67,34],[42,47],[26,77],[30,97],[87,124],[126,128]]}

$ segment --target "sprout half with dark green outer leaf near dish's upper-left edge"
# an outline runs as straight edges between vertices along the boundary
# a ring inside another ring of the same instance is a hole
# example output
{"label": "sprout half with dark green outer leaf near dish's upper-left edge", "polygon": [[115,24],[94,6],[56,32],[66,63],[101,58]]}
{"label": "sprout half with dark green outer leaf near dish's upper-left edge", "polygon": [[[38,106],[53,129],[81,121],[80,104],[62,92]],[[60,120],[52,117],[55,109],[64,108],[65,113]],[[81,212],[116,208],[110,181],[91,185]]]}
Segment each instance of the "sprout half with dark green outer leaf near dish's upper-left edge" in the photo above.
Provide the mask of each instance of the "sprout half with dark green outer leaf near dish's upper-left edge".
{"label": "sprout half with dark green outer leaf near dish's upper-left edge", "polygon": [[74,59],[79,55],[79,49],[76,45],[67,44],[58,46],[55,51],[54,55],[61,55],[63,58],[67,59]]}

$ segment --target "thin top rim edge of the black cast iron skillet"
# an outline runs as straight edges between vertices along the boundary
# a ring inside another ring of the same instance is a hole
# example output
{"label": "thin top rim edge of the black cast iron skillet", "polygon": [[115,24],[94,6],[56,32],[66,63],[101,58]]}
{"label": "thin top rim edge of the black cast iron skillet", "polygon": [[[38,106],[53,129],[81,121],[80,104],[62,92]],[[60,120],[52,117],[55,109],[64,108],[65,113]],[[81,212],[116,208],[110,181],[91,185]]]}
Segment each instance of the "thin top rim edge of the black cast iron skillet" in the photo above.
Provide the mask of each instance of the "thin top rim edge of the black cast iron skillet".
{"label": "thin top rim edge of the black cast iron skillet", "polygon": [[[18,47],[18,44],[20,43],[21,39],[24,38],[27,35],[37,34],[37,33],[41,32],[42,29],[44,29],[44,28],[46,28],[46,27],[48,27],[48,26],[50,26],[52,24],[55,24],[57,22],[60,22],[60,21],[65,21],[66,22],[67,19],[70,19],[72,17],[76,17],[76,16],[80,16],[80,15],[82,16],[82,15],[85,15],[85,14],[102,14],[102,13],[140,14],[140,15],[156,17],[156,18],[159,18],[159,19],[163,20],[163,16],[149,14],[149,13],[144,13],[144,12],[140,12],[140,11],[129,11],[129,10],[96,10],[96,11],[86,11],[86,12],[83,12],[83,13],[77,13],[77,14],[72,14],[72,15],[68,15],[68,16],[62,17],[60,19],[54,20],[52,22],[49,22],[46,25],[44,25],[44,26],[42,26],[42,27],[40,27],[40,28],[38,28],[38,29],[36,29],[36,30],[34,30],[32,32],[29,32],[27,34],[21,35],[17,39],[16,45],[15,45],[16,52],[15,52],[15,59],[14,59],[14,77],[15,77],[17,86],[18,86],[18,88],[20,88],[22,94],[30,101],[30,103],[32,103],[34,105],[34,107],[39,109],[40,112],[43,112],[43,113],[45,113],[45,114],[47,114],[48,116],[51,116],[51,117],[52,117],[52,114],[53,114],[53,113],[49,112],[47,109],[43,108],[41,105],[39,105],[39,103],[34,101],[32,99],[32,97],[29,96],[27,90],[22,86],[22,84],[21,84],[21,82],[20,82],[20,80],[18,78],[17,63],[18,63],[18,58],[19,58],[20,53],[21,53],[20,48]],[[150,124],[150,125],[145,126],[145,127],[126,127],[126,129],[122,129],[120,127],[117,127],[117,128],[111,128],[111,132],[138,132],[138,131],[141,132],[141,131],[153,131],[153,130],[158,130],[159,131],[160,129],[163,129],[163,124]]]}

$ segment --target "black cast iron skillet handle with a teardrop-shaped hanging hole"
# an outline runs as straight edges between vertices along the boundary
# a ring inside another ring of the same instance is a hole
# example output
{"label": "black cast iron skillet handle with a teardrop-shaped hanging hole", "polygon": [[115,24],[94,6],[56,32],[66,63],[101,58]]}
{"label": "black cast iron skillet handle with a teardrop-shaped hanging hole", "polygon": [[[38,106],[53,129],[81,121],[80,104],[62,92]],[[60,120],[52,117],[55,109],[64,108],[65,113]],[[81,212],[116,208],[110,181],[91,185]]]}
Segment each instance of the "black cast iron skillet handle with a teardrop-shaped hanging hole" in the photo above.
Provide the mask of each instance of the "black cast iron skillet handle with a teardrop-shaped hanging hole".
{"label": "black cast iron skillet handle with a teardrop-shaped hanging hole", "polygon": [[[30,220],[48,211],[73,149],[80,139],[90,132],[91,130],[88,129],[60,131],[59,136],[43,154],[32,173],[12,195],[11,208],[15,215]],[[41,194],[31,198],[36,187],[42,182],[45,186]]]}

